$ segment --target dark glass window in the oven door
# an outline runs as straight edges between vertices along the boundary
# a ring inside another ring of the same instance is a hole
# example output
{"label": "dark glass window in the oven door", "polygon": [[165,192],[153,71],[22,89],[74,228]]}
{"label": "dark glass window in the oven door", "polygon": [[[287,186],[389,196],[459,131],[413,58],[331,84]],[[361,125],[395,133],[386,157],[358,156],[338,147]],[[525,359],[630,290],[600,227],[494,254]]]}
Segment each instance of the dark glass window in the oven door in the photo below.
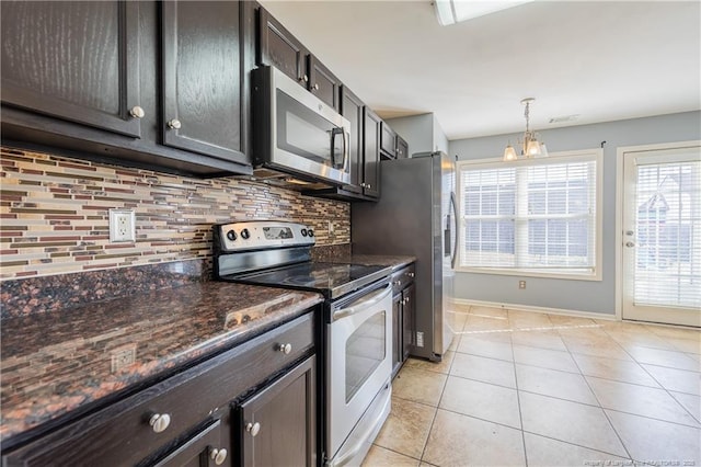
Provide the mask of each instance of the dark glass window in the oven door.
{"label": "dark glass window in the oven door", "polygon": [[387,312],[368,318],[346,341],[346,403],[384,361]]}

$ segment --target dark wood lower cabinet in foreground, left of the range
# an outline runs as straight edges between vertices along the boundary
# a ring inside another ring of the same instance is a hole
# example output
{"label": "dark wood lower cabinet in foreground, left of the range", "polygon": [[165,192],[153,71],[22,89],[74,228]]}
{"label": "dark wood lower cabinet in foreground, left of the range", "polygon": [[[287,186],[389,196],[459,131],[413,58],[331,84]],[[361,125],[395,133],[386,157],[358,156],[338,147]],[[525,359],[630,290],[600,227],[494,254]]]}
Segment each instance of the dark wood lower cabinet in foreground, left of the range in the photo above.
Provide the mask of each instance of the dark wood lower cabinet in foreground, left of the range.
{"label": "dark wood lower cabinet in foreground, left of the range", "polygon": [[[5,443],[2,467],[311,466],[314,321],[308,312],[10,449]],[[230,405],[243,397],[243,413],[261,429],[240,442],[234,433],[245,428],[238,429],[240,411]]]}

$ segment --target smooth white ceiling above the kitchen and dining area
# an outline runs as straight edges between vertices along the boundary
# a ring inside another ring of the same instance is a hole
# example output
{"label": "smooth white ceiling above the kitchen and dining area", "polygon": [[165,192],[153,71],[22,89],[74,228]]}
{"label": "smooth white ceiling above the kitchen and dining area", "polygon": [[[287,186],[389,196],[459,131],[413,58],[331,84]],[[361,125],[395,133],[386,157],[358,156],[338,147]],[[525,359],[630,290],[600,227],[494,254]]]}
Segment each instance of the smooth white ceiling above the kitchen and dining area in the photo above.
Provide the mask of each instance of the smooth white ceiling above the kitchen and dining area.
{"label": "smooth white ceiling above the kitchen and dining area", "polygon": [[[262,0],[381,117],[448,139],[701,109],[701,2],[536,1],[440,26],[430,1]],[[579,115],[570,123],[552,117]]]}

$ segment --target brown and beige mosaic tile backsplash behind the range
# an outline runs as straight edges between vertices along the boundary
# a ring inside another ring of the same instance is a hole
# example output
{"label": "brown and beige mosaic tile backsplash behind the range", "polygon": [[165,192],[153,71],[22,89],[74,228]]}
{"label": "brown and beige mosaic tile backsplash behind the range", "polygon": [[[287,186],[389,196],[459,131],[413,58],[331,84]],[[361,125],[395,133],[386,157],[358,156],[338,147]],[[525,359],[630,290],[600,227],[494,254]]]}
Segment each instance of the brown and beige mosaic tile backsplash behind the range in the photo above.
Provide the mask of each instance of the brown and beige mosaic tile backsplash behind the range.
{"label": "brown and beige mosaic tile backsplash behind the range", "polygon": [[[194,179],[0,148],[0,278],[211,257],[211,226],[287,219],[318,246],[350,241],[348,203],[245,178]],[[110,242],[110,208],[136,213],[136,241]],[[331,229],[330,229],[331,224]]]}

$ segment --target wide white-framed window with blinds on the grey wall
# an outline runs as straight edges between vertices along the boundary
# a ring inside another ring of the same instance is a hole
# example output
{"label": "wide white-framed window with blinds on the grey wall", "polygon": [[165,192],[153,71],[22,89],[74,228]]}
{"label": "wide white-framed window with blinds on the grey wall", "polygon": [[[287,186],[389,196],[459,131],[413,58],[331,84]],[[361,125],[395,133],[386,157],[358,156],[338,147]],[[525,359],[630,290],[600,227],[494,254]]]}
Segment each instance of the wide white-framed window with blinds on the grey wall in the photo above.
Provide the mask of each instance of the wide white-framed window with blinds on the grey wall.
{"label": "wide white-framed window with blinds on the grey wall", "polygon": [[600,280],[601,158],[459,162],[460,269]]}

